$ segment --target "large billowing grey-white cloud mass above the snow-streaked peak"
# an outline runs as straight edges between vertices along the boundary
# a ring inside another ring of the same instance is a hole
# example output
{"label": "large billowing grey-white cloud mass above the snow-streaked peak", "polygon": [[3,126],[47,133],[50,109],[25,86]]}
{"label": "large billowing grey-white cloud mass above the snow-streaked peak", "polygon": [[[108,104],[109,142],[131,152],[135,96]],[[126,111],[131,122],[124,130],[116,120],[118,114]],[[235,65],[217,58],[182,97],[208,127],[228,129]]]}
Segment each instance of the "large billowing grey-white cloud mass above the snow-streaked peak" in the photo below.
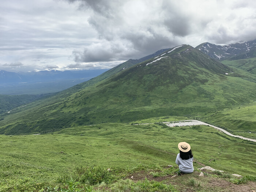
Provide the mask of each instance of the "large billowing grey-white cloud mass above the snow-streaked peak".
{"label": "large billowing grey-white cloud mass above the snow-streaked peak", "polygon": [[[128,57],[138,59],[180,44],[196,46],[204,41],[225,44],[237,41],[239,37],[247,40],[252,35],[250,31],[256,31],[254,26],[246,26],[244,31],[237,29],[241,26],[240,22],[245,23],[248,19],[237,9],[246,8],[251,11],[247,12],[249,16],[255,15],[253,8],[250,8],[255,3],[249,6],[243,1],[237,1],[235,5],[215,0],[152,0],[147,3],[140,0],[69,1],[80,2],[80,8],[93,10],[88,22],[99,38],[97,46],[91,44],[83,51],[73,52],[76,62],[113,61]],[[236,18],[229,18],[231,14],[236,14]],[[256,35],[253,37],[256,38]]]}

